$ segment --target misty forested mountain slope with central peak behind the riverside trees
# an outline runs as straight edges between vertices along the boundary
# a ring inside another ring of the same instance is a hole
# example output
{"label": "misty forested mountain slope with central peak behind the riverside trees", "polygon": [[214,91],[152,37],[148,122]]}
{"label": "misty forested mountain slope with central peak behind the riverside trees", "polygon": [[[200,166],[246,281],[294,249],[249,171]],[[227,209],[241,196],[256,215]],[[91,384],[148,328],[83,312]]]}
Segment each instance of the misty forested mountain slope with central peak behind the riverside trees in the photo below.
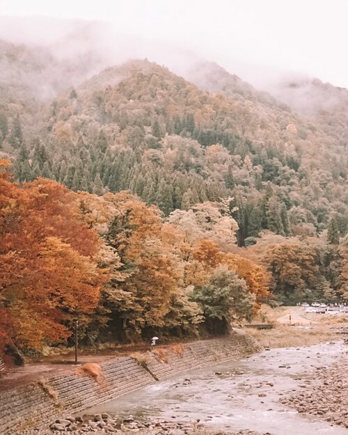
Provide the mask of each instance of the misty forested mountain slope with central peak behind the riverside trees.
{"label": "misty forested mountain slope with central peak behind the riverside trees", "polygon": [[41,103],[40,119],[22,121],[27,134],[11,145],[14,118],[3,150],[20,181],[42,175],[73,190],[129,189],[165,215],[233,196],[240,245],[260,230],[314,235],[333,214],[344,235],[340,132],[218,70],[221,93],[214,70],[205,74],[209,93],[148,61],[108,68]]}

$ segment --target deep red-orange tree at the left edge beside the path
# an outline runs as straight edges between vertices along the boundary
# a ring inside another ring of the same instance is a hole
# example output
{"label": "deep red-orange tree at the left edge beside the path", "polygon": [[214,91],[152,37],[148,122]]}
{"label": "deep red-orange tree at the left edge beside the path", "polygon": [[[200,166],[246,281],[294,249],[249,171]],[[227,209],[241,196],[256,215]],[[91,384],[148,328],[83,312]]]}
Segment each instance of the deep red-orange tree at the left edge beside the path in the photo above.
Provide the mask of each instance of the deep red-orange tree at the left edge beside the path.
{"label": "deep red-orange tree at the left edge beside the path", "polygon": [[107,276],[74,193],[42,179],[19,187],[0,162],[0,337],[2,345],[38,348],[70,335],[64,321],[93,310]]}

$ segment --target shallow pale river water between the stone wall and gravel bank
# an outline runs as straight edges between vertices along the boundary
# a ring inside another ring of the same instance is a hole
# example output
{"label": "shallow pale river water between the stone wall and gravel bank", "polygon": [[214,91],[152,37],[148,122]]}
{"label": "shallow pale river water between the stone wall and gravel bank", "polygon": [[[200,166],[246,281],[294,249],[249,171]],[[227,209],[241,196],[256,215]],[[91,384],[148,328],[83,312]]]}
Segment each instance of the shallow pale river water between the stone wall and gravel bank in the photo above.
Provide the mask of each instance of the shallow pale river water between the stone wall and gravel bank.
{"label": "shallow pale river water between the stone wall and gravel bank", "polygon": [[173,422],[200,419],[214,429],[250,429],[272,435],[348,435],[348,429],[308,418],[279,402],[301,390],[303,381],[313,379],[315,367],[330,365],[342,355],[348,363],[346,351],[347,345],[342,343],[271,349],[188,371],[86,413],[132,414],[136,420],[164,418]]}

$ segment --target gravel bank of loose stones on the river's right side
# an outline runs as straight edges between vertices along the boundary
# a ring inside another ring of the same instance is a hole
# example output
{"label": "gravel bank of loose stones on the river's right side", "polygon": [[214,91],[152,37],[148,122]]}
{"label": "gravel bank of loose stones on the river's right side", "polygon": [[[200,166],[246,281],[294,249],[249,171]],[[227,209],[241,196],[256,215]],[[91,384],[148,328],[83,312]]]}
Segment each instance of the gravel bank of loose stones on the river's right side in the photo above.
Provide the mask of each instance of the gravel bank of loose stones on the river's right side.
{"label": "gravel bank of loose stones on the river's right side", "polygon": [[348,428],[347,356],[329,367],[317,367],[313,379],[303,381],[300,388],[303,390],[301,393],[282,398],[280,403],[306,416]]}

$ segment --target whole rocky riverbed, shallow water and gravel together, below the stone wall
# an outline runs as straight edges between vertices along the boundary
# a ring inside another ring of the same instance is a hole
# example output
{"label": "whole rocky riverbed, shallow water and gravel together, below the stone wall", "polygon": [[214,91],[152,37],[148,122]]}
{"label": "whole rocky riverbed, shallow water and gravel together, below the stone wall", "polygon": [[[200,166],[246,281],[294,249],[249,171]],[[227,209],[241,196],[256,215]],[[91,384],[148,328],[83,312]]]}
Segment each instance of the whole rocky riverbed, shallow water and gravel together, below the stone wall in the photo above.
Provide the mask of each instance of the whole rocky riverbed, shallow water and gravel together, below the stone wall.
{"label": "whole rocky riverbed, shallow water and gravel together, below the stone wall", "polygon": [[347,363],[343,340],[265,349],[155,383],[30,435],[348,435]]}

